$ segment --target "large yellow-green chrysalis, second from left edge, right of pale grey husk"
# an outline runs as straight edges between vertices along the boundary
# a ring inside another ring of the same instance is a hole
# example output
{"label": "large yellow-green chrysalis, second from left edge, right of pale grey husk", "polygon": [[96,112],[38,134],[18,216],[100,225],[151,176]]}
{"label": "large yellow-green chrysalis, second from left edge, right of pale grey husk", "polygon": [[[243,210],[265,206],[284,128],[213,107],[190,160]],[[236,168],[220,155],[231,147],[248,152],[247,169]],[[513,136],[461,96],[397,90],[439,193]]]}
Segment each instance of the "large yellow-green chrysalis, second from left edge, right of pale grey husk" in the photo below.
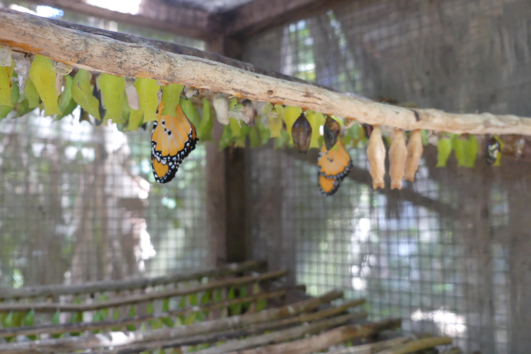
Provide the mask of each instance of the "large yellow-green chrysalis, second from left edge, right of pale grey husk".
{"label": "large yellow-green chrysalis, second from left edge, right of pale grey husk", "polygon": [[53,70],[50,58],[35,55],[30,67],[30,78],[44,103],[46,115],[62,113],[58,105],[57,88],[55,88],[56,76],[57,73]]}

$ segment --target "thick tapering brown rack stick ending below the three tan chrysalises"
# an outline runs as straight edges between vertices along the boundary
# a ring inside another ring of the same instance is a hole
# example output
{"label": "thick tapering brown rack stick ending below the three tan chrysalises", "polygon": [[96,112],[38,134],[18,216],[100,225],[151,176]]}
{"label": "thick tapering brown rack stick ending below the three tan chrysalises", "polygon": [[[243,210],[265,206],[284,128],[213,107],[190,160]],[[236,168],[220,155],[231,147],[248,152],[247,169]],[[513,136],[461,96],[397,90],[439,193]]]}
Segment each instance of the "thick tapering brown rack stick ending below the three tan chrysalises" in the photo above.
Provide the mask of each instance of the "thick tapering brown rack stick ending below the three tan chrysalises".
{"label": "thick tapering brown rack stick ending below the three tan chrysalises", "polygon": [[[376,324],[367,324],[365,326],[343,326],[336,328],[335,330],[329,330],[328,332],[321,333],[314,337],[299,339],[295,342],[288,342],[282,344],[276,344],[271,346],[262,346],[261,348],[250,349],[247,351],[233,351],[227,354],[306,354],[315,353],[328,348],[331,345],[346,342],[348,340],[356,338],[364,338],[374,333],[378,333],[382,330],[393,329],[400,327],[400,319],[390,319],[384,322],[378,322]],[[243,342],[243,341],[241,341]],[[253,346],[259,346],[253,345]],[[218,347],[215,347],[218,348]],[[209,349],[215,349],[209,348]],[[201,354],[221,354],[224,351],[198,351]]]}

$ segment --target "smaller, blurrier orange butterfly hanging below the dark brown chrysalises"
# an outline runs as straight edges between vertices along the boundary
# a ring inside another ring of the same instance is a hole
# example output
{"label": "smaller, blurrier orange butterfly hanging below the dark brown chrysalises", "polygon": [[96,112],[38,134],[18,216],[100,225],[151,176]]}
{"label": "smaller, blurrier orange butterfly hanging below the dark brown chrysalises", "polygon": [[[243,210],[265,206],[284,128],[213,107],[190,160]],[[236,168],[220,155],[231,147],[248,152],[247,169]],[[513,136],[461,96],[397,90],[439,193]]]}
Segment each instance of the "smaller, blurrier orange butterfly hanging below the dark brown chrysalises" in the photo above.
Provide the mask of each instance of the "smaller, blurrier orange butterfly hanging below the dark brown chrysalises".
{"label": "smaller, blurrier orange butterfly hanging below the dark brown chrysalises", "polygon": [[327,150],[323,145],[319,152],[317,166],[319,166],[319,190],[324,196],[331,196],[351,170],[352,160],[341,141],[338,140],[337,150]]}

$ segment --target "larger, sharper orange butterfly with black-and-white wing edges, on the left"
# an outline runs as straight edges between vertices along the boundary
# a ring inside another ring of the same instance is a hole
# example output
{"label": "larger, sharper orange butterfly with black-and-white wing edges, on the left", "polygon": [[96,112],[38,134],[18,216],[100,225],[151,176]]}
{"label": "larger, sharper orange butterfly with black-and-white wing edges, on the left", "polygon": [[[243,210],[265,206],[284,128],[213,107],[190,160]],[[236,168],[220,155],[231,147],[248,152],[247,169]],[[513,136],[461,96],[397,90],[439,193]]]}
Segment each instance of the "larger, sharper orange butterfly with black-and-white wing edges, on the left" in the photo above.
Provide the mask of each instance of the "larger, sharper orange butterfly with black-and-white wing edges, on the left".
{"label": "larger, sharper orange butterfly with black-and-white wing edges, on the left", "polygon": [[174,179],[181,162],[198,141],[196,127],[176,106],[173,115],[162,115],[162,102],[158,106],[158,120],[153,122],[151,133],[151,167],[157,183],[167,183]]}

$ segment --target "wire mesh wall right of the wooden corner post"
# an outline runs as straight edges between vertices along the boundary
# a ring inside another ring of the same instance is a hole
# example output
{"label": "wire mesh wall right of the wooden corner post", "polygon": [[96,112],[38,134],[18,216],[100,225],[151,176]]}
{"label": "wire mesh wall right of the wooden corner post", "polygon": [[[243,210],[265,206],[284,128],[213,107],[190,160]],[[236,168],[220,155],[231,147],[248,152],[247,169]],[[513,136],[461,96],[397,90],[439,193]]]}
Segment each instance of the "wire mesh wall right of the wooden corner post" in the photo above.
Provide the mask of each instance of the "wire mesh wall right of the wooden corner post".
{"label": "wire mesh wall right of the wooden corner post", "polygon": [[[244,59],[375,99],[530,115],[530,15],[528,1],[351,1],[252,37]],[[367,297],[372,319],[402,317],[469,353],[531,347],[526,162],[437,169],[427,147],[415,183],[374,192],[360,147],[324,198],[317,153],[250,153],[254,257],[294,270],[313,295]]]}

